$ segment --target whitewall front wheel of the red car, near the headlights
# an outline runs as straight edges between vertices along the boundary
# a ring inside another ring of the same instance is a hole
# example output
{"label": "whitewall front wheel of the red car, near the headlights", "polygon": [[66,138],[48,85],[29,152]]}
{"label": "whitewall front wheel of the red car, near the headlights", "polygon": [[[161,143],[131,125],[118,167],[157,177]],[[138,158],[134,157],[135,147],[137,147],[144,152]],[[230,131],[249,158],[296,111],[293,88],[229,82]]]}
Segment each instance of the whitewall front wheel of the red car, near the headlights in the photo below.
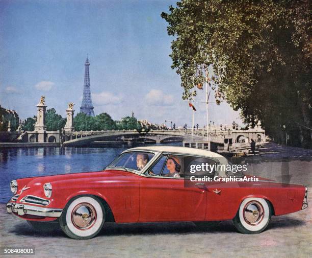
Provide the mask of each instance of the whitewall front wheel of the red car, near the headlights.
{"label": "whitewall front wheel of the red car, near the headlights", "polygon": [[94,196],[78,196],[65,206],[60,217],[60,226],[68,237],[90,239],[101,230],[105,221],[105,209]]}

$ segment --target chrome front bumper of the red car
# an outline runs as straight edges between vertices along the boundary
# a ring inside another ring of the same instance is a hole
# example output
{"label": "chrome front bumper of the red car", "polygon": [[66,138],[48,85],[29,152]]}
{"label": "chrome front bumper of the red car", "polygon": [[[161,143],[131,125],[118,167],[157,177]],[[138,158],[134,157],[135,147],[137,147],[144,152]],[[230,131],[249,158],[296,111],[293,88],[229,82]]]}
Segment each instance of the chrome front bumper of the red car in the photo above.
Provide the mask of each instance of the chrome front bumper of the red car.
{"label": "chrome front bumper of the red car", "polygon": [[8,202],[7,203],[7,212],[8,213],[17,213],[19,216],[24,215],[35,215],[40,217],[60,217],[63,209],[56,208],[43,208],[27,204],[19,204]]}

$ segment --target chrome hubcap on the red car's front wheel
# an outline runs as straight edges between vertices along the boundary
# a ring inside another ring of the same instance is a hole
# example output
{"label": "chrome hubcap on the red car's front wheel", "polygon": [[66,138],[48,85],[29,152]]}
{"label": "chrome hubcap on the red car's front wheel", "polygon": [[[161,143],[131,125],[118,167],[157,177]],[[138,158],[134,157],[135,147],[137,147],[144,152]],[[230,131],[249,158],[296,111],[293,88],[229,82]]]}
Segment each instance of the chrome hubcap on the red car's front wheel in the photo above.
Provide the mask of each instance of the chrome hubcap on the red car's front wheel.
{"label": "chrome hubcap on the red car's front wheel", "polygon": [[96,221],[96,211],[89,203],[80,203],[71,212],[72,224],[81,230],[91,228]]}

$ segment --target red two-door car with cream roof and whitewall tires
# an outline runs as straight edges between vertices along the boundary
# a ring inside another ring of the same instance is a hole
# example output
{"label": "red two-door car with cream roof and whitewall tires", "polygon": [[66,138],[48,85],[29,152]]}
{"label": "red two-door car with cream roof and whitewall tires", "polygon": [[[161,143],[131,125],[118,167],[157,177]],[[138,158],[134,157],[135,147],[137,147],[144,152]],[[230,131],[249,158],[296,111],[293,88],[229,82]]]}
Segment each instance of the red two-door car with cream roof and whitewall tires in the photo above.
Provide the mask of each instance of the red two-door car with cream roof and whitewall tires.
{"label": "red two-door car with cream roof and whitewall tires", "polygon": [[105,222],[233,220],[238,231],[259,233],[271,216],[307,207],[306,187],[237,168],[206,150],[133,148],[103,171],[11,181],[7,211],[34,227],[57,222],[70,238],[89,239]]}

